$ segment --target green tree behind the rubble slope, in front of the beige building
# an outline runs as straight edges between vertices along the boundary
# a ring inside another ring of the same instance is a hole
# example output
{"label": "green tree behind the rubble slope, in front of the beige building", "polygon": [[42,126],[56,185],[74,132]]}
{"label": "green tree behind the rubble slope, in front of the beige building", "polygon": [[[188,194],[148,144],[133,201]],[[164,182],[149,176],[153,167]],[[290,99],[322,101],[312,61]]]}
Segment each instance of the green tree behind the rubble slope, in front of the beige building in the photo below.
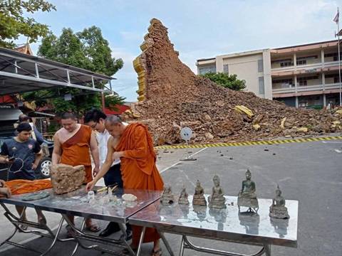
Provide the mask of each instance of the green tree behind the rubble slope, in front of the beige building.
{"label": "green tree behind the rubble slope, in front of the beige building", "polygon": [[216,82],[217,85],[229,88],[231,90],[244,90],[246,88],[246,81],[237,79],[237,75],[227,75],[224,73],[207,73],[201,75],[204,78],[209,78],[212,82]]}

